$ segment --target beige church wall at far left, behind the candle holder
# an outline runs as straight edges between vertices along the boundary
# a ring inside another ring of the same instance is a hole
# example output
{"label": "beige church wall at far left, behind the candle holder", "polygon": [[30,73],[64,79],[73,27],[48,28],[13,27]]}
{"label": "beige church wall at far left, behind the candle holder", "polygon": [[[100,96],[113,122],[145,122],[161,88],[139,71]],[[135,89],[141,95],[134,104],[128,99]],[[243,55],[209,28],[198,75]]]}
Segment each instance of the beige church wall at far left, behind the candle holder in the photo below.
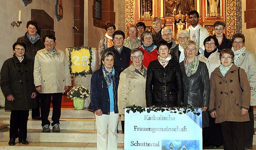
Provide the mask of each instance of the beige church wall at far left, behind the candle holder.
{"label": "beige church wall at far left, behind the candle holder", "polygon": [[[56,36],[56,48],[63,51],[67,47],[73,47],[74,26],[74,1],[63,0],[63,19],[60,21],[56,17],[56,0],[33,0],[27,6],[22,0],[2,0],[0,5],[0,67],[4,61],[13,55],[12,45],[17,38],[24,36],[26,24],[31,20],[31,9],[44,10],[54,19],[54,31]],[[18,21],[19,10],[22,11],[20,27],[12,27],[12,22]]]}

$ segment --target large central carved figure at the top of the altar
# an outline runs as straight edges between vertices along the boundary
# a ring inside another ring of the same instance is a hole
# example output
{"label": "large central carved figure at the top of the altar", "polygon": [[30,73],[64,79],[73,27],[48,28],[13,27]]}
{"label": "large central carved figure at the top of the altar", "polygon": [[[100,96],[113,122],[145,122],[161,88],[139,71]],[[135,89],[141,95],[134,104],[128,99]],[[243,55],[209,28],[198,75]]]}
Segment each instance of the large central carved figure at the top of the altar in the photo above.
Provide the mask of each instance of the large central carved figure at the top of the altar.
{"label": "large central carved figure at the top of the altar", "polygon": [[165,0],[166,16],[175,16],[178,12],[186,15],[195,9],[194,0]]}

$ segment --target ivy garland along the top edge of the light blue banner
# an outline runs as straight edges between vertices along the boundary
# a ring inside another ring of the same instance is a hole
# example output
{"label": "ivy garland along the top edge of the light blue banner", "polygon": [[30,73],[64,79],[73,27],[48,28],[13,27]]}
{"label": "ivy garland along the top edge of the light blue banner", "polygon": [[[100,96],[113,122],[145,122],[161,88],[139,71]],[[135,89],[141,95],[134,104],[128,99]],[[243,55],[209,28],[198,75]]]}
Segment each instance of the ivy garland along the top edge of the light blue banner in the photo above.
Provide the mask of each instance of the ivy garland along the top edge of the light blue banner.
{"label": "ivy garland along the top edge of the light blue banner", "polygon": [[[133,113],[136,113],[136,112],[142,113],[142,112],[146,111],[145,107],[136,106],[136,105],[128,106],[126,108],[127,108],[126,113],[130,113],[130,111],[132,111]],[[154,112],[170,111],[170,113],[179,113],[179,114],[185,114],[185,113],[188,113],[188,112],[192,112],[193,114],[196,114],[196,115],[199,116],[200,113],[196,113],[195,109],[200,109],[200,108],[202,108],[202,107],[197,107],[197,108],[195,108],[195,107],[177,107],[177,108],[173,108],[173,107],[169,107],[169,108],[150,107],[150,108],[147,109],[147,113],[150,113],[150,111],[154,111]],[[177,112],[176,109],[180,110],[180,111]]]}

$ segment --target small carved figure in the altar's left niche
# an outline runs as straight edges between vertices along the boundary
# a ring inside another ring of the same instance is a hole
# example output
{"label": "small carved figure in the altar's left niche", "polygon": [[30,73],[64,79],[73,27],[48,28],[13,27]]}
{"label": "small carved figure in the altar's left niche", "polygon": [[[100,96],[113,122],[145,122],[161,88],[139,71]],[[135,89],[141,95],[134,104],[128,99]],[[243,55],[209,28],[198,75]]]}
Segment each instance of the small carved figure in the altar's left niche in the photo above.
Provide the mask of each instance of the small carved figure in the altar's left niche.
{"label": "small carved figure in the altar's left niche", "polygon": [[146,19],[150,19],[152,16],[152,0],[140,0],[141,16]]}

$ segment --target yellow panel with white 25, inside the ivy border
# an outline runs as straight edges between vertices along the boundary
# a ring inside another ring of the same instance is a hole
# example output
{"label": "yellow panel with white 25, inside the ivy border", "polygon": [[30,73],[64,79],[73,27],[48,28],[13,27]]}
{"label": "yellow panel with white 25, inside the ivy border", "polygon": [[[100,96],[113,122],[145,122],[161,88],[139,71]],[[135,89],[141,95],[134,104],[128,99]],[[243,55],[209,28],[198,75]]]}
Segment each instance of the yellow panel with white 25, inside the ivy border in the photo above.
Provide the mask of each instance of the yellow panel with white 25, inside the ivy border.
{"label": "yellow panel with white 25, inside the ivy border", "polygon": [[90,66],[90,52],[89,49],[82,48],[79,51],[72,51],[71,55],[71,62],[72,62],[72,72],[82,72],[82,71],[89,71]]}

